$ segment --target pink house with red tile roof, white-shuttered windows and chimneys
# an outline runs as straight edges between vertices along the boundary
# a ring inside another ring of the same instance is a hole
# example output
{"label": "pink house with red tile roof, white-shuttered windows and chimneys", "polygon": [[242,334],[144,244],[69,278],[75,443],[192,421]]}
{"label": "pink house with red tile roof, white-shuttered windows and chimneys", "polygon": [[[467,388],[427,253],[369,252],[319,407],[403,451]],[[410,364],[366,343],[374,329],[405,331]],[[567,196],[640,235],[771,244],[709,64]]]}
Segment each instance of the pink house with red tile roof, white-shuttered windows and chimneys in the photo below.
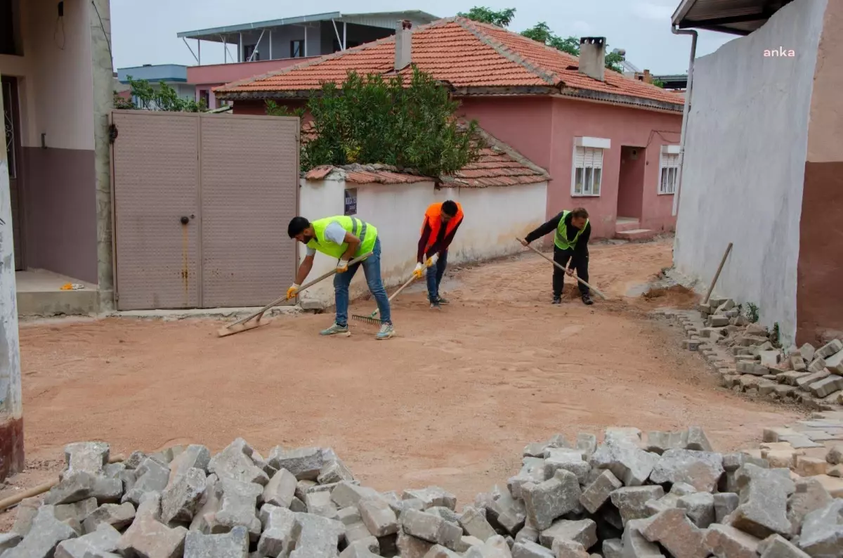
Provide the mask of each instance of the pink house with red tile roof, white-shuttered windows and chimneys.
{"label": "pink house with red tile roof, white-shuttered windows and chimneys", "polygon": [[[460,116],[549,171],[548,217],[586,207],[593,235],[604,238],[673,230],[682,95],[605,69],[601,38],[583,39],[577,58],[463,18],[396,27],[395,36],[228,84],[217,99],[235,113],[261,114],[267,99],[300,106],[349,70],[407,75],[414,64],[448,84]],[[405,59],[396,60],[396,40]]]}

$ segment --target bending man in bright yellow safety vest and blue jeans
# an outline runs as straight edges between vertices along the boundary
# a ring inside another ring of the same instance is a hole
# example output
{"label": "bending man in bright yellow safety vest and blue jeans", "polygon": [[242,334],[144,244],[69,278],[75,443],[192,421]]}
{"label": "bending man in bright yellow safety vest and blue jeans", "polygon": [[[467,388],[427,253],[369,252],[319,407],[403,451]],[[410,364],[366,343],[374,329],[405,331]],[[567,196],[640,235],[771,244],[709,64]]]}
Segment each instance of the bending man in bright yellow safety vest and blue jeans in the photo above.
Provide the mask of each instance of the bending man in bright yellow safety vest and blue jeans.
{"label": "bending man in bright yellow safety vest and blue jeans", "polygon": [[[380,239],[377,228],[356,217],[325,217],[312,223],[304,217],[293,217],[287,226],[287,234],[308,247],[307,255],[301,266],[298,266],[296,282],[287,289],[287,298],[293,298],[298,293],[298,287],[301,287],[313,267],[317,251],[338,260],[334,276],[336,320],[334,325],[322,330],[320,335],[351,335],[348,331],[348,286],[361,265],[369,291],[378,303],[381,325],[375,338],[389,339],[395,335],[389,314],[389,298],[380,278]],[[368,252],[372,252],[372,255],[348,266],[349,261]]]}

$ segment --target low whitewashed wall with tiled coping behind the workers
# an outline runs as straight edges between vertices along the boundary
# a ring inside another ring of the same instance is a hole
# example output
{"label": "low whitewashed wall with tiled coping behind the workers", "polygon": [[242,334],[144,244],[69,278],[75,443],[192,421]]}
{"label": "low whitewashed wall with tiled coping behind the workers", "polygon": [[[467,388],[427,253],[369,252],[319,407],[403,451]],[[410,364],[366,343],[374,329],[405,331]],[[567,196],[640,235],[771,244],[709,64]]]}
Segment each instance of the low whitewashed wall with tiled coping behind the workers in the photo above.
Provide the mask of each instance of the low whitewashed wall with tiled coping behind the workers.
{"label": "low whitewashed wall with tiled coping behind the workers", "polygon": [[[459,201],[465,213],[448,263],[487,260],[514,254],[523,249],[514,239],[544,222],[547,183],[496,188],[444,188],[435,190],[432,182],[405,185],[347,185],[343,180],[302,180],[299,191],[300,214],[310,220],[342,215],[345,190],[357,188],[358,217],[378,228],[381,241],[381,276],[386,287],[405,282],[416,266],[416,249],[421,222],[427,207],[436,201]],[[300,247],[299,258],[306,249]],[[330,271],[335,260],[318,254],[310,279]],[[362,271],[357,272],[352,298],[368,292]],[[311,287],[301,301],[328,307],[334,304],[330,279]]]}

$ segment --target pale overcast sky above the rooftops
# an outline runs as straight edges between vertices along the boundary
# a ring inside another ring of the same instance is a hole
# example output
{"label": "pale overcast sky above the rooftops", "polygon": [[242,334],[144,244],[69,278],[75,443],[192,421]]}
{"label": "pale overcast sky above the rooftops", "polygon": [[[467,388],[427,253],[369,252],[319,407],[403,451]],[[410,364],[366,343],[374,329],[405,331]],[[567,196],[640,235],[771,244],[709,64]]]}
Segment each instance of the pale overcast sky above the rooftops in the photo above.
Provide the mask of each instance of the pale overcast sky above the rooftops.
{"label": "pale overcast sky above the rooftops", "polygon": [[[605,36],[609,50],[626,49],[626,60],[653,73],[688,69],[690,37],[670,32],[670,16],[679,0],[111,0],[115,67],[142,64],[195,64],[191,51],[176,38],[180,31],[281,19],[309,13],[382,12],[421,9],[445,18],[472,6],[516,8],[509,29],[522,31],[540,21],[556,35]],[[700,32],[697,56],[716,51],[735,35]],[[196,49],[196,41],[189,40]],[[203,63],[222,63],[222,47],[202,43]]]}

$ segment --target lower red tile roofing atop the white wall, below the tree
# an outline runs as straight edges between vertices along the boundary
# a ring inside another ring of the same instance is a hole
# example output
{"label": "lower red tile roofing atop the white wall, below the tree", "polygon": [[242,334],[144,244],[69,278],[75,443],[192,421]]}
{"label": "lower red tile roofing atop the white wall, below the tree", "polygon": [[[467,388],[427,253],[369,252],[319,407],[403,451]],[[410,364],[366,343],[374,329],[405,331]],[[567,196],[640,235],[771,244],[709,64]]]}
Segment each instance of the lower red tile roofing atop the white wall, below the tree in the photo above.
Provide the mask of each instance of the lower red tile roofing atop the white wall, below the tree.
{"label": "lower red tile roofing atop the white wall, below the tree", "polygon": [[[507,144],[491,137],[486,131],[477,131],[486,147],[481,148],[480,157],[465,165],[453,175],[442,176],[439,180],[446,187],[486,188],[489,186],[514,186],[537,184],[550,180],[545,169],[530,162]],[[314,137],[313,127],[309,123],[302,126],[302,138]],[[385,164],[347,164],[341,167],[330,165],[310,169],[304,174],[306,180],[323,180],[335,173],[336,178],[344,178],[353,184],[412,184],[433,180],[409,170],[399,170]]]}

